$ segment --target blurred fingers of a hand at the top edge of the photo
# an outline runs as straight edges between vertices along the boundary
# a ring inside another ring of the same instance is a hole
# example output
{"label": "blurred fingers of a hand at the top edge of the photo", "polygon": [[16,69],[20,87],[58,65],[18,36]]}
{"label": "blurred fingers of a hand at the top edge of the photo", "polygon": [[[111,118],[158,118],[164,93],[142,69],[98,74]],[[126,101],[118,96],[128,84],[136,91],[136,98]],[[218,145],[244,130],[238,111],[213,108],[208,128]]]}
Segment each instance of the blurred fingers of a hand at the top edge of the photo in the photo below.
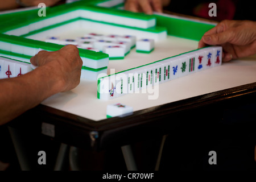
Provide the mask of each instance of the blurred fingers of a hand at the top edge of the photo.
{"label": "blurred fingers of a hand at the top edge of the photo", "polygon": [[168,5],[168,3],[170,0],[126,0],[125,10],[146,14],[153,14],[153,11],[162,13],[163,6]]}

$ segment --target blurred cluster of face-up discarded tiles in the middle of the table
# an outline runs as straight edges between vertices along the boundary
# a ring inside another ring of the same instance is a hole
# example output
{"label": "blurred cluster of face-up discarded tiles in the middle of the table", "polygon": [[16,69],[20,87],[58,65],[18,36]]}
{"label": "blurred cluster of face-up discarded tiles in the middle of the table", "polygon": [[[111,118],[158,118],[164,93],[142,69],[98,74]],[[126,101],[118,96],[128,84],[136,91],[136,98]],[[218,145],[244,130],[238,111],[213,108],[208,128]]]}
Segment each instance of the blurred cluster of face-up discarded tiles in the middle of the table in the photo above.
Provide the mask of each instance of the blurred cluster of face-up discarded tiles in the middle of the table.
{"label": "blurred cluster of face-up discarded tiles in the middle of the table", "polygon": [[102,35],[96,33],[85,34],[77,39],[60,39],[50,36],[46,42],[67,45],[72,44],[78,48],[103,52],[109,55],[109,59],[124,59],[135,47],[136,37],[131,35]]}

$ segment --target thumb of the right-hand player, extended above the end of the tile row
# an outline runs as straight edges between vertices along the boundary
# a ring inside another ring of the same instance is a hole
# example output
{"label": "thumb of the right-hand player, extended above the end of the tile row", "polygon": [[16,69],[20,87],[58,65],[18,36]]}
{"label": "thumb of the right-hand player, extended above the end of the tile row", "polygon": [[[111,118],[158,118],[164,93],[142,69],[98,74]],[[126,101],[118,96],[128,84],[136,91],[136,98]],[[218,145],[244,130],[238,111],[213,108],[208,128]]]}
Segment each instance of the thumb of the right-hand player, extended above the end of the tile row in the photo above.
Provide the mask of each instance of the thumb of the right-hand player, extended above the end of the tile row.
{"label": "thumb of the right-hand player, extended above the end of the tile row", "polygon": [[218,34],[204,35],[202,40],[208,45],[220,45],[230,42],[232,34],[230,31],[221,32]]}

